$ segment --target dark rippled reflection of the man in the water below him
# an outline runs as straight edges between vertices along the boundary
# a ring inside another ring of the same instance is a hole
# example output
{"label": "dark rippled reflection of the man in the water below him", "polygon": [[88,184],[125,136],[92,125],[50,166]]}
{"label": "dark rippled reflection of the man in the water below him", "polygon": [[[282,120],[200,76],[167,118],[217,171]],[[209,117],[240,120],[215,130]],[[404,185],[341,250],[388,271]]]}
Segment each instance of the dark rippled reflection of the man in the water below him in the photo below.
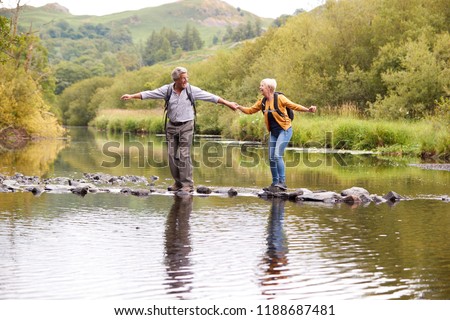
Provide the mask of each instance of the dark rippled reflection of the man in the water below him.
{"label": "dark rippled reflection of the man in the water below him", "polygon": [[191,291],[192,271],[189,217],[192,212],[192,196],[175,196],[166,221],[165,264],[168,293],[184,299]]}

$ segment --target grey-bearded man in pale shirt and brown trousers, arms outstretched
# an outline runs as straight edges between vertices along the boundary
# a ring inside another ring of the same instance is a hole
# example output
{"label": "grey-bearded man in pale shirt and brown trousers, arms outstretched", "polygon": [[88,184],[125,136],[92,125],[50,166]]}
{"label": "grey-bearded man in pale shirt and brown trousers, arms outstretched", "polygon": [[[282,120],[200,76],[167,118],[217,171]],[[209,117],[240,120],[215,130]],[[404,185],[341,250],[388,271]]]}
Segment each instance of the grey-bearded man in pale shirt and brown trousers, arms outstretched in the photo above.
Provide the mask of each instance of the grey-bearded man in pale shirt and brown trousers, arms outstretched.
{"label": "grey-bearded man in pale shirt and brown trousers, arms outstretched", "polygon": [[134,94],[124,94],[121,100],[130,99],[165,99],[170,93],[167,103],[166,127],[168,142],[169,167],[175,183],[168,188],[169,191],[194,191],[192,178],[191,147],[194,135],[194,107],[193,100],[209,101],[226,105],[236,110],[238,104],[230,102],[198,87],[189,85],[186,68],[177,67],[172,71],[173,83],[166,84],[158,89],[142,91]]}

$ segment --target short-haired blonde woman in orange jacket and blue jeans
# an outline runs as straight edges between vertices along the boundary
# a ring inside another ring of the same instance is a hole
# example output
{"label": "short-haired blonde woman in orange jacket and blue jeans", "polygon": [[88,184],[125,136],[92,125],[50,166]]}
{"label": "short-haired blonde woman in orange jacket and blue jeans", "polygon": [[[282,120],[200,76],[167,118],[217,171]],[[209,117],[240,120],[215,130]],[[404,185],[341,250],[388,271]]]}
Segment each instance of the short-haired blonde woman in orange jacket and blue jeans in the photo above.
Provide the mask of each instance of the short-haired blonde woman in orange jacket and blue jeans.
{"label": "short-haired blonde woman in orange jacket and blue jeans", "polygon": [[[287,108],[302,112],[316,112],[317,107],[311,106],[306,108],[293,103],[283,94],[276,93],[276,88],[277,82],[275,79],[263,79],[259,85],[259,91],[263,98],[259,99],[252,107],[238,106],[238,109],[246,114],[263,111],[264,122],[270,132],[269,162],[272,173],[271,187],[287,190],[283,155],[292,137],[292,122],[288,116]],[[275,97],[277,97],[276,103]],[[276,108],[277,106],[278,108]]]}

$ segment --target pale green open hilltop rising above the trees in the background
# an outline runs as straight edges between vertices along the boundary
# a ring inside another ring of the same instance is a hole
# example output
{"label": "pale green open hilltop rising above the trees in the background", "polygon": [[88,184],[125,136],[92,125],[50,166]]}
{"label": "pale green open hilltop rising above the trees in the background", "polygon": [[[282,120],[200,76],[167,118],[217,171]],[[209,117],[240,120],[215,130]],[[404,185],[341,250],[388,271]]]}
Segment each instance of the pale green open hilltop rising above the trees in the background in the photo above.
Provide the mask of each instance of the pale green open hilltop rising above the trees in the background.
{"label": "pale green open hilltop rising above the trees in the background", "polygon": [[[10,16],[11,10],[0,10],[0,15]],[[83,24],[103,24],[110,28],[120,26],[128,28],[133,41],[138,43],[145,41],[152,31],[166,27],[182,32],[186,24],[190,24],[199,30],[209,46],[214,35],[224,34],[228,26],[236,27],[256,20],[261,22],[262,27],[268,27],[273,22],[273,19],[260,18],[220,0],[181,0],[104,16],[72,15],[65,7],[53,3],[42,7],[23,6],[19,26],[24,30],[32,26],[41,33],[59,21],[67,22],[72,28]]]}

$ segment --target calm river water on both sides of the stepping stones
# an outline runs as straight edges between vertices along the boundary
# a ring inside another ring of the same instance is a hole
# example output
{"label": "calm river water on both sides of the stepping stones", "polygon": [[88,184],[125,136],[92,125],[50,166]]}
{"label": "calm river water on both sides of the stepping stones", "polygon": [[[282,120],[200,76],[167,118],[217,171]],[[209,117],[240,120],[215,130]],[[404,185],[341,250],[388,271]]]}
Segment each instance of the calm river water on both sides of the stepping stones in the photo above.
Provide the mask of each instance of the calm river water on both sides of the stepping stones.
{"label": "calm river water on both sides of the stepping stones", "polygon": [[[71,130],[71,141],[3,149],[0,174],[172,183],[160,137]],[[111,141],[120,146],[105,149]],[[108,165],[113,154],[119,166]],[[294,203],[255,195],[270,183],[257,144],[202,139],[194,155],[197,185],[241,195],[0,193],[0,299],[450,299],[450,204],[440,200],[450,172],[291,149],[292,190],[360,186],[413,199]]]}

